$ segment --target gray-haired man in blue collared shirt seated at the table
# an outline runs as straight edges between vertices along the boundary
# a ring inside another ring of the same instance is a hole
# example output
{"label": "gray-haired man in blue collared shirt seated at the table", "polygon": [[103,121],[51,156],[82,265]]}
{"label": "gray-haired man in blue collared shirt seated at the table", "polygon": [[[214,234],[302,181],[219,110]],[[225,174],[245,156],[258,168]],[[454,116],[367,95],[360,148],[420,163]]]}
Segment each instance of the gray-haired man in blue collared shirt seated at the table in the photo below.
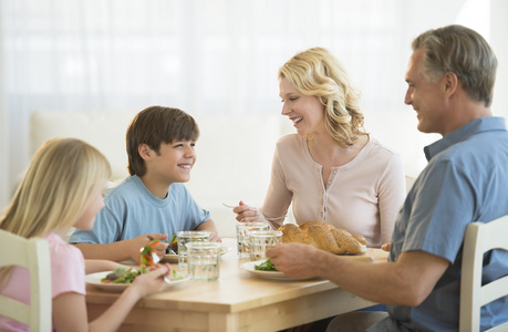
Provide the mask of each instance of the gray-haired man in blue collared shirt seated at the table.
{"label": "gray-haired man in blue collared shirt seated at the table", "polygon": [[[508,132],[490,112],[497,60],[477,32],[449,25],[413,42],[404,102],[418,131],[443,138],[425,147],[428,165],[397,216],[386,263],[365,264],[300,243],[267,250],[289,277],[329,279],[386,312],[335,318],[326,331],[456,331],[464,235],[473,221],[508,215]],[[494,250],[483,280],[508,274]],[[481,310],[481,330],[508,321],[508,299]]]}

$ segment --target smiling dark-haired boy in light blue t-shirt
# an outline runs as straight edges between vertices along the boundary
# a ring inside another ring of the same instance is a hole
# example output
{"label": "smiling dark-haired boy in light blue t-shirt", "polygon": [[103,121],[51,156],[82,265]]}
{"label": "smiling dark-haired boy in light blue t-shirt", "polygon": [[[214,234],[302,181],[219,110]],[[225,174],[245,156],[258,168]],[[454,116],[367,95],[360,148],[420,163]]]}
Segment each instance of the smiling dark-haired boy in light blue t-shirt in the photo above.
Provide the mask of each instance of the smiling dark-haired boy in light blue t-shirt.
{"label": "smiling dark-haired boy in light blue t-shirt", "polygon": [[[127,128],[128,173],[106,193],[104,209],[91,230],[76,230],[75,243],[86,259],[138,260],[139,248],[180,230],[208,230],[220,241],[210,214],[184,186],[196,162],[196,121],[178,108],[152,106]],[[165,253],[167,243],[155,249]]]}

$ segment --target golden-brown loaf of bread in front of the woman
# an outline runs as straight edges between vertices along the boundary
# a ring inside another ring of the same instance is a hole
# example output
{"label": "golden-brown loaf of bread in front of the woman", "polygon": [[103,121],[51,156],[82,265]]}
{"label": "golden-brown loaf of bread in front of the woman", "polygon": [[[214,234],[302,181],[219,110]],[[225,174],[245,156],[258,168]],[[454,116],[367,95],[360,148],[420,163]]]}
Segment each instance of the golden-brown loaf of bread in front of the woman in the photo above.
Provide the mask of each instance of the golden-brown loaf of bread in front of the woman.
{"label": "golden-brown loaf of bread in front of the woman", "polygon": [[300,226],[286,224],[279,228],[282,242],[300,242],[333,253],[363,253],[366,251],[365,238],[335,228],[324,221],[308,221]]}

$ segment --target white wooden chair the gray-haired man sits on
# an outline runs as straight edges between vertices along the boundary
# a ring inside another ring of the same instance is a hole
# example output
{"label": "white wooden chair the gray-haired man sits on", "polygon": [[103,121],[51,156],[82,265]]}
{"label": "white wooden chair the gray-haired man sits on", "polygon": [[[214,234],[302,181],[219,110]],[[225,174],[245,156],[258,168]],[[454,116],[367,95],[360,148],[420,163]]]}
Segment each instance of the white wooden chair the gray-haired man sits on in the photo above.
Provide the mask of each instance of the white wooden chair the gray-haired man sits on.
{"label": "white wooden chair the gray-haired man sits on", "polygon": [[[508,276],[481,286],[484,253],[491,249],[508,250],[508,215],[490,222],[471,222],[466,228],[460,280],[459,331],[480,328],[480,308],[508,295]],[[508,274],[508,271],[506,272]],[[508,322],[488,331],[508,331]]]}

